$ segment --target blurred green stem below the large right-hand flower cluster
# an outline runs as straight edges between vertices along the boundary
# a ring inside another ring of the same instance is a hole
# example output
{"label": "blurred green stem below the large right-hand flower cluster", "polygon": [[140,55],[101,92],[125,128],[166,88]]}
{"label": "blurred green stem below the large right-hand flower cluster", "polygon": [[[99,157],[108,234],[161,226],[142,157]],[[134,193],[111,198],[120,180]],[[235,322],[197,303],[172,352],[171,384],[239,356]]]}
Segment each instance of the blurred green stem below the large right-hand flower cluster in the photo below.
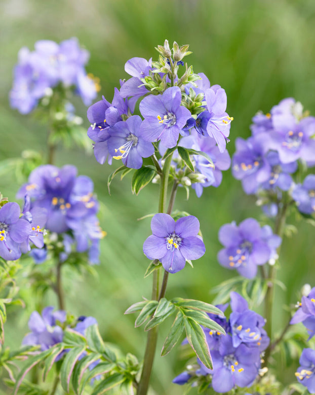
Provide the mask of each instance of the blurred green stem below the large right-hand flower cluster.
{"label": "blurred green stem below the large right-hand flower cluster", "polygon": [[[284,203],[282,208],[278,206],[278,215],[277,218],[275,219],[275,224],[274,224],[274,234],[279,235],[282,237],[285,223],[286,223],[286,216],[287,216],[287,209],[288,209],[288,204]],[[280,254],[280,247],[278,249],[278,255]],[[266,318],[266,326],[265,330],[267,332],[267,335],[270,338],[270,345],[265,351],[265,357],[264,357],[264,366],[267,366],[268,360],[270,357],[270,353],[272,351],[271,349],[271,340],[272,340],[272,306],[273,306],[273,298],[274,298],[274,281],[275,277],[277,274],[277,268],[275,265],[270,266],[269,269],[269,278],[268,278],[268,288],[266,292],[266,297],[265,297],[265,305],[264,305],[264,312],[265,312],[265,318]]]}

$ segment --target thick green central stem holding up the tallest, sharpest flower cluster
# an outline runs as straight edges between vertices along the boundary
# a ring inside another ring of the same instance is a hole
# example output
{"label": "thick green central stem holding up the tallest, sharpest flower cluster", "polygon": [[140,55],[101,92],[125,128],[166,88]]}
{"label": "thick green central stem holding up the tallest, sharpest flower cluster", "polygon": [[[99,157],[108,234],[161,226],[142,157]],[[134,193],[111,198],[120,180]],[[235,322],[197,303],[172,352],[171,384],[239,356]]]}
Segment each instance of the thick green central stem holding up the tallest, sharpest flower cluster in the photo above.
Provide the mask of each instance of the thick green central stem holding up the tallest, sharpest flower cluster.
{"label": "thick green central stem holding up the tallest, sharpest flower cluster", "polygon": [[[160,196],[159,196],[159,213],[166,212],[167,188],[168,188],[168,183],[169,183],[171,162],[172,162],[172,155],[168,156],[165,159],[165,163],[164,163],[162,174],[161,174]],[[174,186],[173,186],[173,189],[174,189]],[[176,190],[175,190],[175,192],[173,192],[173,194],[171,194],[171,198],[170,198],[170,204],[171,204],[171,200],[173,200],[172,207],[173,207],[174,200],[175,200],[174,194],[176,194]],[[174,195],[174,197],[172,197],[173,195]],[[170,208],[170,205],[169,205],[169,208]],[[152,285],[152,300],[155,300],[155,301],[159,300],[159,287],[158,287],[159,276],[160,276],[160,270],[159,269],[154,270],[153,285]],[[162,287],[163,286],[164,285],[162,284]],[[166,284],[165,284],[165,287],[166,287]],[[144,354],[144,359],[143,359],[143,369],[142,369],[141,378],[139,381],[137,395],[146,395],[146,393],[147,393],[147,390],[149,387],[149,382],[150,382],[152,366],[153,366],[154,355],[155,355],[156,342],[157,342],[157,326],[155,326],[150,331],[148,331],[145,354]]]}

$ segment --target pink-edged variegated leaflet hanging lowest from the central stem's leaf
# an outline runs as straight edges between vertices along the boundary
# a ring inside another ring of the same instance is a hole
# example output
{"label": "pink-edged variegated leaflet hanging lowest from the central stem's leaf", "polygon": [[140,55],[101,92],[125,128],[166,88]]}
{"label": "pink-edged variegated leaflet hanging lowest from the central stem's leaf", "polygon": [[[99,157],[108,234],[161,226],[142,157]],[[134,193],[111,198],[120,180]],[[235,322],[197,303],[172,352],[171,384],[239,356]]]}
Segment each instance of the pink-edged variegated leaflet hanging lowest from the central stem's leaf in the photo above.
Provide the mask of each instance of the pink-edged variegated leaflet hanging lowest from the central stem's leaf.
{"label": "pink-edged variegated leaflet hanging lowest from the central stem's leaf", "polygon": [[201,326],[193,319],[184,317],[185,331],[188,343],[193,348],[202,363],[212,369],[212,359],[207,343],[206,335]]}

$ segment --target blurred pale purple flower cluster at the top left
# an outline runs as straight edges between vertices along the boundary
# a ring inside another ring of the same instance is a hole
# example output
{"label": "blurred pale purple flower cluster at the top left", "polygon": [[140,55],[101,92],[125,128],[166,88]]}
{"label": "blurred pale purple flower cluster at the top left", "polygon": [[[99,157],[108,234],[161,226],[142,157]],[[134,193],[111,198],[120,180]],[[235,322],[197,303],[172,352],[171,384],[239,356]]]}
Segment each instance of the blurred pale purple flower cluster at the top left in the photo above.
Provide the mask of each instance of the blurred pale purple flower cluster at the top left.
{"label": "blurred pale purple flower cluster at the top left", "polygon": [[74,87],[83,102],[90,105],[100,87],[98,80],[86,73],[88,59],[89,52],[80,48],[76,38],[60,44],[37,41],[34,51],[21,48],[10,92],[11,107],[27,114],[43,97],[51,96],[58,84],[65,89]]}

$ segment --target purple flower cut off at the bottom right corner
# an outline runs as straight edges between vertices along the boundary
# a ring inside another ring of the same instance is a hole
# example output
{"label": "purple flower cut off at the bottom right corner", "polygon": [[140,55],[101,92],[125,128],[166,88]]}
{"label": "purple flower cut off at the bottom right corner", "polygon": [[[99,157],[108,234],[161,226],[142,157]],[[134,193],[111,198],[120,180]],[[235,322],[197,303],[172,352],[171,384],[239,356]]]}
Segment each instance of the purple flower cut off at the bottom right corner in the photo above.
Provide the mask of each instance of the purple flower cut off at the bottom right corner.
{"label": "purple flower cut off at the bottom right corner", "polygon": [[315,392],[315,350],[304,348],[300,356],[300,367],[295,373],[298,381],[303,384],[310,393]]}

